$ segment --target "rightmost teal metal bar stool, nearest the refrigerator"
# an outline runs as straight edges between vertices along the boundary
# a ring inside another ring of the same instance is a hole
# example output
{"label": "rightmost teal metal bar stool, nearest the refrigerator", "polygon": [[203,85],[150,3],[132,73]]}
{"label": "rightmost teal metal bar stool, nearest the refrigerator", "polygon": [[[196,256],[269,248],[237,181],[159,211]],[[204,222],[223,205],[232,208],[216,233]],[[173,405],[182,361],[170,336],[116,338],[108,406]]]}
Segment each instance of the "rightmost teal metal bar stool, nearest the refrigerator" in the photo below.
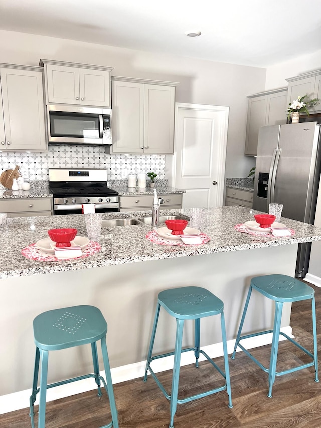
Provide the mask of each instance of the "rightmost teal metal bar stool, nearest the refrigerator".
{"label": "rightmost teal metal bar stool, nearest the refrigerator", "polygon": [[[250,301],[252,290],[257,290],[263,296],[266,296],[269,299],[275,301],[275,315],[274,315],[274,325],[273,330],[266,330],[258,333],[248,334],[245,336],[241,336],[241,331],[244,323],[244,319],[246,316],[247,307]],[[303,348],[299,343],[290,338],[287,334],[282,333],[280,331],[281,326],[281,317],[282,317],[282,309],[284,302],[298,302],[300,300],[311,299],[312,302],[312,329],[313,329],[313,347],[314,354],[309,352],[307,349]],[[269,368],[264,367],[253,355],[244,348],[240,344],[242,339],[247,339],[250,337],[256,337],[267,333],[273,333],[272,335],[272,347],[271,347],[271,356],[270,356],[270,364]],[[284,336],[287,340],[292,342],[302,351],[304,351],[307,355],[312,358],[312,361],[307,364],[302,364],[288,370],[283,370],[280,372],[276,371],[276,361],[277,361],[277,351],[279,345],[279,336]],[[297,370],[302,370],[307,367],[314,366],[315,371],[315,382],[318,382],[318,369],[317,369],[317,338],[316,338],[316,316],[315,316],[315,298],[314,298],[314,290],[312,287],[308,286],[304,282],[298,281],[290,276],[286,275],[266,275],[266,276],[257,276],[251,280],[251,285],[248,291],[247,299],[245,302],[245,307],[239,327],[239,331],[237,333],[234,351],[231,356],[232,359],[235,358],[236,348],[239,347],[248,355],[262,370],[264,370],[269,375],[269,392],[267,396],[269,398],[272,397],[272,387],[275,381],[275,376],[282,376],[284,374],[293,373]]]}

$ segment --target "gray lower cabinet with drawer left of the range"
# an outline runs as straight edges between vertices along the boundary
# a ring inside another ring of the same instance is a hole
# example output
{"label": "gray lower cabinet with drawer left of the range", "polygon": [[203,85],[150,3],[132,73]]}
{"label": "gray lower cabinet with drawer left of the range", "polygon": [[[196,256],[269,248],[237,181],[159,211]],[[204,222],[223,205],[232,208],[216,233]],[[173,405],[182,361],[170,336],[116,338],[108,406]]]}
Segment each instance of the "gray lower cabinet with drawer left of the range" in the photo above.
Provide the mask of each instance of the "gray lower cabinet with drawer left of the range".
{"label": "gray lower cabinet with drawer left of the range", "polygon": [[8,217],[52,215],[52,198],[19,198],[0,200],[0,212]]}

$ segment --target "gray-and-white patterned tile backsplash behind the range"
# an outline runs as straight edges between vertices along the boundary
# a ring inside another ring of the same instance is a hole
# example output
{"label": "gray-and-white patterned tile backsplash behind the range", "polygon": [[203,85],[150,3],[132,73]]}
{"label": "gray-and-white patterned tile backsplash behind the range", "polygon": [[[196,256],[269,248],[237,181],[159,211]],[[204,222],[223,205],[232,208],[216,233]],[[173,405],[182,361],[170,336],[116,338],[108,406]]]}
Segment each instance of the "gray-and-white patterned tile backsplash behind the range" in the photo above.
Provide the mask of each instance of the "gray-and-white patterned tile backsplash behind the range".
{"label": "gray-and-white patterned tile backsplash behind the range", "polygon": [[0,152],[0,174],[16,165],[30,180],[48,180],[48,168],[106,168],[108,180],[148,171],[159,178],[165,175],[165,155],[110,155],[102,146],[50,145],[48,152]]}

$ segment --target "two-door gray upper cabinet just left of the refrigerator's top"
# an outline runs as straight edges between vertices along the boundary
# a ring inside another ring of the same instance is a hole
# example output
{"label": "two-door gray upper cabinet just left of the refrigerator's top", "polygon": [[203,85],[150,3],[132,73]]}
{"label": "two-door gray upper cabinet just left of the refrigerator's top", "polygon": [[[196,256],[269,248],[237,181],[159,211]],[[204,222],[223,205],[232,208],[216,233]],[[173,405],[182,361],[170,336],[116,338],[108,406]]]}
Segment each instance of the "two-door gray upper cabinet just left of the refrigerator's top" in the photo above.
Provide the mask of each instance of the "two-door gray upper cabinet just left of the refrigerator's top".
{"label": "two-door gray upper cabinet just left of the refrigerator's top", "polygon": [[245,155],[255,156],[261,126],[286,123],[287,88],[249,95]]}

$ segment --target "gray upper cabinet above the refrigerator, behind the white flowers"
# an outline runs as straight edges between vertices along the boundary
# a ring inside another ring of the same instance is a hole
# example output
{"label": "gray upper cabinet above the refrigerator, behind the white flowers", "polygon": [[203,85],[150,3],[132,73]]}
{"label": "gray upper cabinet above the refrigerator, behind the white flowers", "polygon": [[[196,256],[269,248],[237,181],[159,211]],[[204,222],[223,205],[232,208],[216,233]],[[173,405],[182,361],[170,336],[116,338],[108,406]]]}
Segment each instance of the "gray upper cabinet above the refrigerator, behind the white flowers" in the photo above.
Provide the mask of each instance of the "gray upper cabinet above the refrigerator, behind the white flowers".
{"label": "gray upper cabinet above the refrigerator, behind the white flowers", "polygon": [[[300,74],[299,76],[286,79],[286,81],[289,82],[287,105],[297,99],[298,95],[308,95],[309,99],[321,99],[321,70]],[[317,113],[320,111],[321,104],[309,109],[310,113]]]}

